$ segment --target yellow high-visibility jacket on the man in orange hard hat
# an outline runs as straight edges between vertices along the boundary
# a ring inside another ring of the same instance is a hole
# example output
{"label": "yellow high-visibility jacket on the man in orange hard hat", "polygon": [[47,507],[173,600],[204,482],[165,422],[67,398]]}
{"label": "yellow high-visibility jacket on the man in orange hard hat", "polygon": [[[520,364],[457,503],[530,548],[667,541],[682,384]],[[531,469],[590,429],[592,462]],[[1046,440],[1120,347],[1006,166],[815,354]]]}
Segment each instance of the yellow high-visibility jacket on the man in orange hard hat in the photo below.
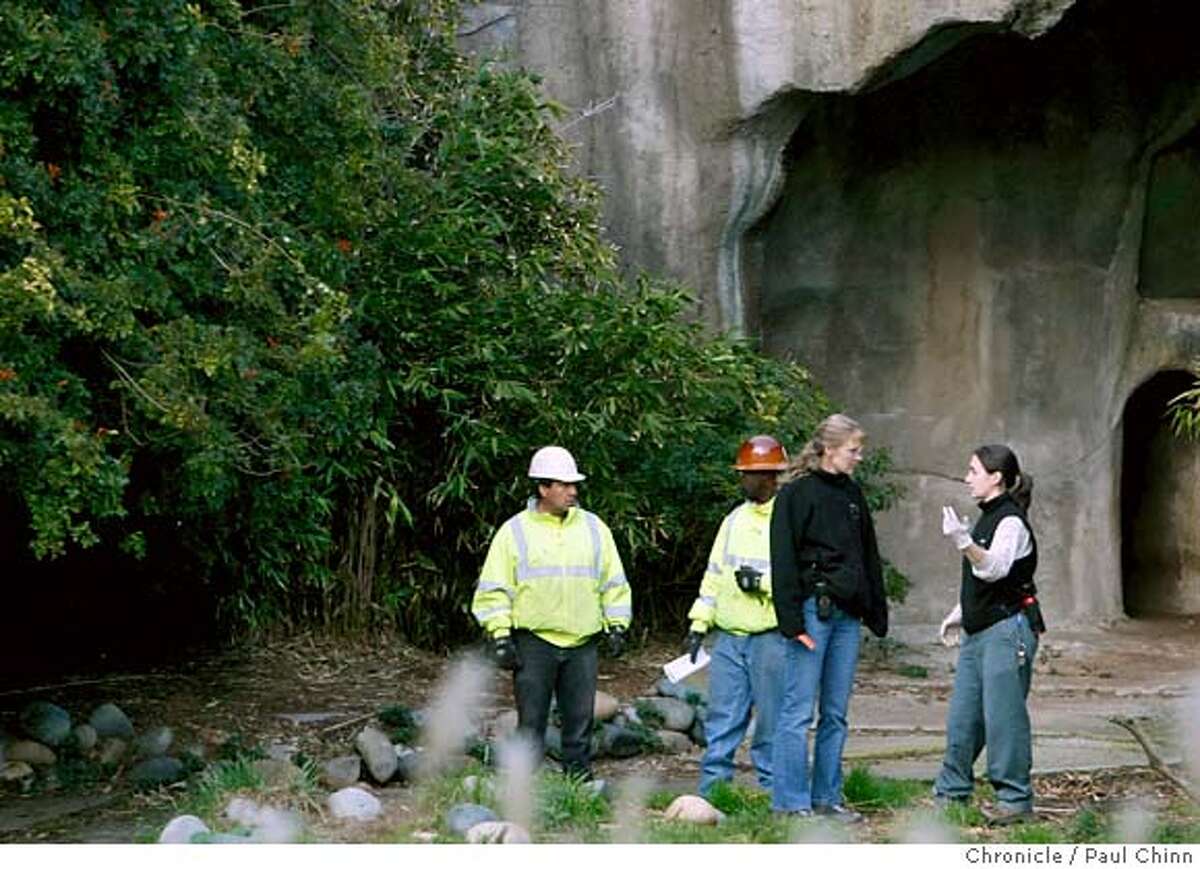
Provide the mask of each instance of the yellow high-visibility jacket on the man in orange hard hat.
{"label": "yellow high-visibility jacket on the man in orange hard hat", "polygon": [[[779,625],[770,598],[770,514],[774,508],[774,498],[766,504],[748,501],[721,522],[700,583],[700,597],[688,611],[694,631],[707,634],[716,625],[730,634],[745,635]],[[761,592],[746,593],[738,588],[733,571],[743,564],[762,571]]]}

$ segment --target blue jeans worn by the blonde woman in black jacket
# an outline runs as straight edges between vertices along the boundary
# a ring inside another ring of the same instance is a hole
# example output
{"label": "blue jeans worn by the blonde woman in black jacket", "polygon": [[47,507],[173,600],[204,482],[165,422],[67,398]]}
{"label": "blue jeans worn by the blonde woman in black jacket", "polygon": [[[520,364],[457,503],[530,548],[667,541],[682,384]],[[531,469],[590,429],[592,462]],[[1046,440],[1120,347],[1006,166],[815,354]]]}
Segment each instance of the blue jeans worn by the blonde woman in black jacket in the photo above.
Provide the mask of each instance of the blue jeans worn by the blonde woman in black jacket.
{"label": "blue jeans worn by the blonde woman in black jacket", "polygon": [[[846,715],[858,667],[860,622],[834,607],[827,622],[817,618],[816,601],[804,601],[804,624],[816,648],[809,652],[785,639],[784,701],[775,725],[772,808],[808,810],[841,805],[841,753],[850,727]],[[809,768],[809,725],[820,699],[821,718]]]}

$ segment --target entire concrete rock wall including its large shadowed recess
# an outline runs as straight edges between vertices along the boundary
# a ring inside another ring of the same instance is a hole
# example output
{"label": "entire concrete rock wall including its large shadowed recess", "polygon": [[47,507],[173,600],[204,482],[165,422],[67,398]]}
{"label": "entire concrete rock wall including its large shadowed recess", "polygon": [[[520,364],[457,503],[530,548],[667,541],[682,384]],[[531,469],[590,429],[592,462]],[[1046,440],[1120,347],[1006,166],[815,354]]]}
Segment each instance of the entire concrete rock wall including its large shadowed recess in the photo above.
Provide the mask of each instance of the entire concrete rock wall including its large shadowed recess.
{"label": "entire concrete rock wall including its large shadowed recess", "polygon": [[892,449],[908,498],[881,540],[914,585],[899,621],[953,603],[937,509],[970,507],[956,479],[992,441],[1037,478],[1063,621],[1121,613],[1126,401],[1200,353],[1192,14],[527,0],[472,7],[462,38],[568,108],[626,262],[809,365]]}

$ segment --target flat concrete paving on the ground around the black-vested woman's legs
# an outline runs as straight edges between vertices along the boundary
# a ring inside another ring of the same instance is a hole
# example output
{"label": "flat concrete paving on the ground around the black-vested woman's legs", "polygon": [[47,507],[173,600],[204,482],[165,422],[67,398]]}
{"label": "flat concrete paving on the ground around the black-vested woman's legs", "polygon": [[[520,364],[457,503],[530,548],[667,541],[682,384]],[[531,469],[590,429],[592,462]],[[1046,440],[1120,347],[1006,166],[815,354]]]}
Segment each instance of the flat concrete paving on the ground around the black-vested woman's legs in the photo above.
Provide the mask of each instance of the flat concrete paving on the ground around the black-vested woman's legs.
{"label": "flat concrete paving on the ground around the black-vested woman's legs", "polygon": [[[851,703],[851,765],[889,777],[937,774],[958,651],[931,642],[935,635],[936,625],[910,627],[898,631],[892,660],[868,652]],[[902,676],[905,665],[928,676]],[[1052,630],[1030,695],[1034,772],[1145,767],[1145,751],[1114,717],[1139,719],[1160,755],[1177,760],[1200,739],[1189,689],[1198,665],[1200,629],[1187,619]]]}

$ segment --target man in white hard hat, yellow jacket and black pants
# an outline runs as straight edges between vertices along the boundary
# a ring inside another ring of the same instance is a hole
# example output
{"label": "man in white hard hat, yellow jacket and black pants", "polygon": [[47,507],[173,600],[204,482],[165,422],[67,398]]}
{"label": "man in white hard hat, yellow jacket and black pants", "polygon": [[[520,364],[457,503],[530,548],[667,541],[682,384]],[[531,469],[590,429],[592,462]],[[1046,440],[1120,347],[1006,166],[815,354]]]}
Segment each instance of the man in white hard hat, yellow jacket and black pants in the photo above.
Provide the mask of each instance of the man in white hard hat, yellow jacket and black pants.
{"label": "man in white hard hat, yellow jacket and black pants", "polygon": [[578,505],[584,477],[562,447],[529,462],[535,495],[492,538],[472,615],[496,663],[512,671],[517,729],[540,757],[550,701],[563,717],[563,771],[590,777],[598,646],[618,657],[632,593],[612,532]]}

